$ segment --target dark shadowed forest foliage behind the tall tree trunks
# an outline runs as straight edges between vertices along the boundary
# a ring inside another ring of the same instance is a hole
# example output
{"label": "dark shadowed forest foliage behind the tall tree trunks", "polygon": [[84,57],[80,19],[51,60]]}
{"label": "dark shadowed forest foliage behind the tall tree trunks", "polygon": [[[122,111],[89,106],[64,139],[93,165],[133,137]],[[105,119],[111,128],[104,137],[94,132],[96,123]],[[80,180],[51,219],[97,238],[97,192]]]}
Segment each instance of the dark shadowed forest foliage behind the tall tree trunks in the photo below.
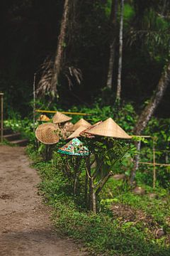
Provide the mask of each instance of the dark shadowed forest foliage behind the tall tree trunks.
{"label": "dark shadowed forest foliage behind the tall tree trunks", "polygon": [[[166,2],[166,3],[165,3]],[[77,1],[75,1],[75,4]],[[30,112],[33,74],[40,80],[40,66],[54,56],[60,34],[64,1],[1,1],[0,90],[5,92],[5,112]],[[166,4],[166,5],[165,5]],[[111,0],[79,1],[69,23],[64,65],[79,68],[83,80],[64,75],[60,80],[62,106],[90,105],[96,97],[113,105],[118,72],[116,43],[113,90],[107,92]],[[118,10],[119,17],[119,10]],[[118,35],[117,35],[118,36]],[[123,27],[122,98],[141,109],[152,95],[169,58],[169,1],[125,1]],[[55,103],[56,104],[56,103]],[[58,106],[59,102],[57,102]],[[157,113],[169,117],[169,89]]]}

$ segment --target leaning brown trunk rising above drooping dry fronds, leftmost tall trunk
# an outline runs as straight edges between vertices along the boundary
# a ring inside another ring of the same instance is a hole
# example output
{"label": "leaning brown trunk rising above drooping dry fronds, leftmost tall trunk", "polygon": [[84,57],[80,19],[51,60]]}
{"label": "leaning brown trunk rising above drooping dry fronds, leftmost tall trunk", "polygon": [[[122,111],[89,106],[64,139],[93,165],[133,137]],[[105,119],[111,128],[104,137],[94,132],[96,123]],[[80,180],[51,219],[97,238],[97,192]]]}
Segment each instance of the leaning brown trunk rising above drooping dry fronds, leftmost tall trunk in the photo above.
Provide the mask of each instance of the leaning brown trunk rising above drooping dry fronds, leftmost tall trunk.
{"label": "leaning brown trunk rising above drooping dry fronds, leftmost tall trunk", "polygon": [[51,82],[52,96],[57,95],[57,85],[59,82],[60,71],[62,68],[62,58],[64,53],[65,38],[67,34],[67,26],[69,22],[70,4],[69,0],[64,1],[64,10],[62,15],[62,23],[60,28],[60,36],[57,43],[57,52],[55,55],[55,63],[53,67],[53,75]]}

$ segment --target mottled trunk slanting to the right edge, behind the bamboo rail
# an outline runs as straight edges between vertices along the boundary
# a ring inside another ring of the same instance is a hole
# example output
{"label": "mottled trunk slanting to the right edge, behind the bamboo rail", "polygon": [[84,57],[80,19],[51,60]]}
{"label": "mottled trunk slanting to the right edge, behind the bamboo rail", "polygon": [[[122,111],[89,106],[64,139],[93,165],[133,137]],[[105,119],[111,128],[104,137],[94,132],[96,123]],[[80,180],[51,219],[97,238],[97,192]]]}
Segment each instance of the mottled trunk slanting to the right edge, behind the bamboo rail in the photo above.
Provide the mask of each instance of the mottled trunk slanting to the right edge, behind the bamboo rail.
{"label": "mottled trunk slanting to the right edge, behind the bamboo rail", "polygon": [[[134,134],[140,135],[142,131],[145,129],[149,120],[154,114],[154,111],[157,109],[159,103],[161,102],[162,97],[164,96],[164,92],[166,91],[166,87],[169,85],[169,83],[170,83],[170,63],[169,65],[167,65],[166,69],[164,70],[164,73],[162,73],[162,77],[158,82],[157,88],[154,92],[154,95],[152,95],[151,100],[149,101],[149,104],[142,111],[142,114],[140,115],[140,118],[138,119],[137,124],[133,130]],[[134,181],[135,174],[138,168],[138,161],[139,161],[139,157],[136,156],[134,159],[134,167],[132,169],[132,173],[130,177],[130,184],[132,184],[132,182]]]}

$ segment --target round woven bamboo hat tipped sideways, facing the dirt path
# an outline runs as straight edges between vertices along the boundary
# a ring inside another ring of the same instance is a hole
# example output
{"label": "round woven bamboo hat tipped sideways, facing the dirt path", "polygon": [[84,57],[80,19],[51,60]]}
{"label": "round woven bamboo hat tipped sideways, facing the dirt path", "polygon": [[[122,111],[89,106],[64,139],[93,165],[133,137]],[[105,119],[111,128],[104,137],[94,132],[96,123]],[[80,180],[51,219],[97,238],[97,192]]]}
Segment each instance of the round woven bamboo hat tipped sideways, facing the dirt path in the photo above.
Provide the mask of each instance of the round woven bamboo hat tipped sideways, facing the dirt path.
{"label": "round woven bamboo hat tipped sideways, facing the dirt path", "polygon": [[59,129],[57,125],[52,123],[40,124],[35,130],[36,138],[43,144],[56,144],[59,142]]}

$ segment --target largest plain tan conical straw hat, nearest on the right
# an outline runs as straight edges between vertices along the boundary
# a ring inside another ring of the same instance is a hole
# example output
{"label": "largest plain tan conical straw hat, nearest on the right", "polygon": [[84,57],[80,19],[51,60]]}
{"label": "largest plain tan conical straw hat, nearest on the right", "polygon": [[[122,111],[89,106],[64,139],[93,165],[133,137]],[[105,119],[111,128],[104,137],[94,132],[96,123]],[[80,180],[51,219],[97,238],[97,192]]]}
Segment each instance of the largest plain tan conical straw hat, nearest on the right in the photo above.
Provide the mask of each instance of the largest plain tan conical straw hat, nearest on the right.
{"label": "largest plain tan conical straw hat, nearest on the right", "polygon": [[118,124],[116,124],[111,117],[106,119],[97,127],[89,129],[87,133],[103,137],[106,136],[120,139],[131,139],[131,136],[129,136]]}

